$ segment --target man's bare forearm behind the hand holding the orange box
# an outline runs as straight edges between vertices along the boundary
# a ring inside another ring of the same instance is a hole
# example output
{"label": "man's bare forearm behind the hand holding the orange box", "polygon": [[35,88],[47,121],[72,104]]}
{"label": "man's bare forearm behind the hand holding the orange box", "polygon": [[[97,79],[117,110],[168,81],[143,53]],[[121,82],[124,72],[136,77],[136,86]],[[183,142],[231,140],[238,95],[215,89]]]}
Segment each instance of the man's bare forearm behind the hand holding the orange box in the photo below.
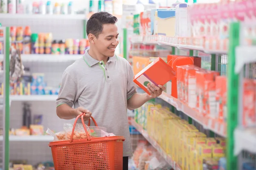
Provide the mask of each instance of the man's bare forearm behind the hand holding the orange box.
{"label": "man's bare forearm behind the hand holding the orange box", "polygon": [[131,96],[130,99],[127,101],[127,108],[129,110],[140,108],[145,102],[148,102],[148,100],[152,99],[148,94],[138,94],[135,93],[133,96]]}

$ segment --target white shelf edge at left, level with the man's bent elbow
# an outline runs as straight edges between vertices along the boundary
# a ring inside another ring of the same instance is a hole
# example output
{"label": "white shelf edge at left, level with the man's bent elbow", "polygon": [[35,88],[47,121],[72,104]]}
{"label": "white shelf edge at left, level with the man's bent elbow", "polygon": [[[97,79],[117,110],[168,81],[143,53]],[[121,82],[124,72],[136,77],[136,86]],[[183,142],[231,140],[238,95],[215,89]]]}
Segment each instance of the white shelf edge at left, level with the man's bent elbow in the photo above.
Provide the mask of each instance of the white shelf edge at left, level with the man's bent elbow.
{"label": "white shelf edge at left, level with the man's bent elbow", "polygon": [[57,95],[12,95],[10,100],[13,101],[55,101]]}

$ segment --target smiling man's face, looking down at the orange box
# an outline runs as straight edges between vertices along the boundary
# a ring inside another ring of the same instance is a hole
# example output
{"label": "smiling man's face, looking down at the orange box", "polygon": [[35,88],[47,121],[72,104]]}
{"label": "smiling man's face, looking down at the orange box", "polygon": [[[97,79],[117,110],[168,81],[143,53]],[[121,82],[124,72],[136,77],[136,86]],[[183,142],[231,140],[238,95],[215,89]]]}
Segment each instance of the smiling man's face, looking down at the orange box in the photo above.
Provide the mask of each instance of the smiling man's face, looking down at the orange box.
{"label": "smiling man's face, looking down at the orange box", "polygon": [[116,46],[119,43],[116,24],[104,24],[102,33],[95,40],[95,47],[105,57],[115,55]]}

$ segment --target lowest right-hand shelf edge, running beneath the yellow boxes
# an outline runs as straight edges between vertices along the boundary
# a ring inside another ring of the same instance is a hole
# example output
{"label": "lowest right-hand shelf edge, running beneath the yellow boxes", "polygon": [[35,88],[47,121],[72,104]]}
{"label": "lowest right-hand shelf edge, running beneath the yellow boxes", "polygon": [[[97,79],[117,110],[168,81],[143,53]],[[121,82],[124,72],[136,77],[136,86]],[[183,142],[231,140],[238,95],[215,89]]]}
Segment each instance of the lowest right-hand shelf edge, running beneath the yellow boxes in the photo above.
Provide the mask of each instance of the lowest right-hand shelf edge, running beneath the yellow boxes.
{"label": "lowest right-hand shelf edge, running beneath the yellow boxes", "polygon": [[174,170],[181,170],[180,166],[172,160],[171,156],[167,155],[160,145],[152,137],[150,137],[148,133],[143,130],[143,127],[137,124],[134,119],[131,119],[131,125],[133,125],[144,136],[144,138],[147,139],[147,141],[161,154],[161,156],[163,156],[166,162],[169,163]]}

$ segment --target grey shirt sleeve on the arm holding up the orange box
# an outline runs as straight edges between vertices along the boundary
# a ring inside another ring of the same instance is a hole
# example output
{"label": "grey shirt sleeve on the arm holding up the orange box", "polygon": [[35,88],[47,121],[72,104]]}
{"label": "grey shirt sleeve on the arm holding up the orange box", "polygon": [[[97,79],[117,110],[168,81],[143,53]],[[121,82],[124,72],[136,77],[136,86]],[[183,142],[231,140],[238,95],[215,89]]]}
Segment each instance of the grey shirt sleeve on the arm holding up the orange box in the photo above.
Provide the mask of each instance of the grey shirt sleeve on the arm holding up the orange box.
{"label": "grey shirt sleeve on the arm holding up the orange box", "polygon": [[133,81],[134,79],[134,72],[133,69],[128,63],[128,77],[127,77],[127,100],[131,98],[137,91],[136,91],[136,84]]}

